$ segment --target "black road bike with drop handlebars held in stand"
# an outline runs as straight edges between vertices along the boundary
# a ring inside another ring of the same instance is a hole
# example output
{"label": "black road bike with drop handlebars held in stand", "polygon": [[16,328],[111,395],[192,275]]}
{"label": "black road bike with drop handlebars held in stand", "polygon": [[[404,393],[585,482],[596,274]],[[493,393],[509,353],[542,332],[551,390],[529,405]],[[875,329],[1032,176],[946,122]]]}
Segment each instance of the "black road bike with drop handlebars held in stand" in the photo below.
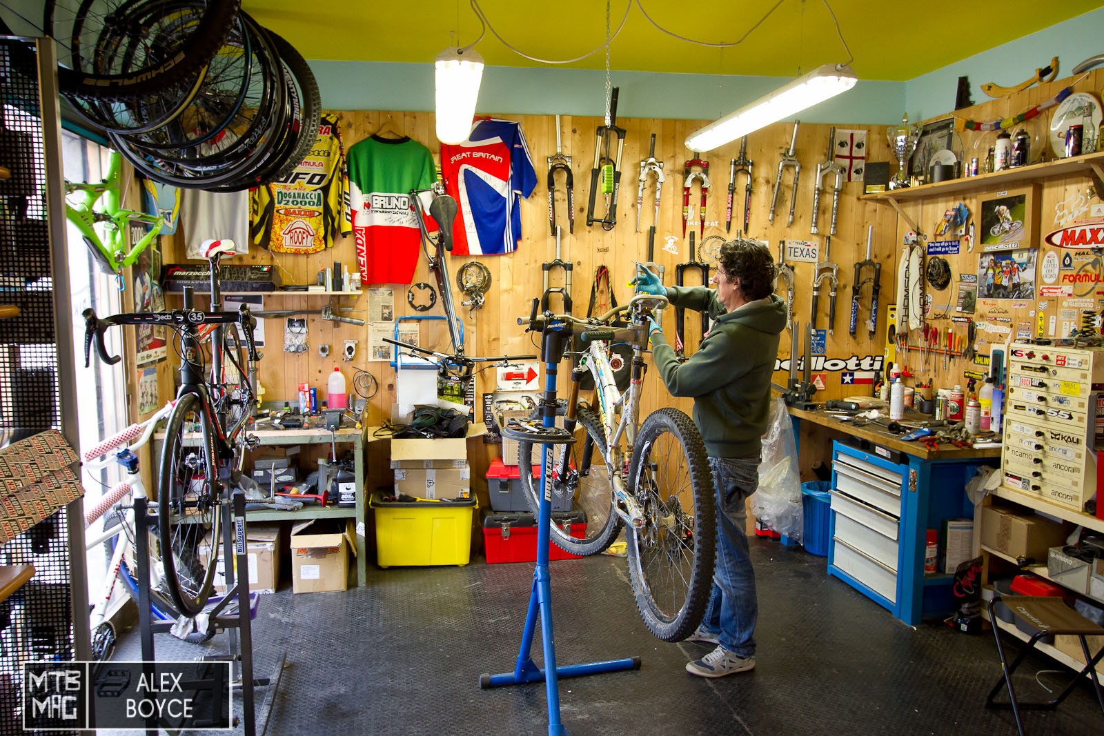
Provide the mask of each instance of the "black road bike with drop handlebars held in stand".
{"label": "black road bike with drop handlebars held in stand", "polygon": [[[163,554],[166,587],[176,608],[189,616],[203,609],[211,593],[217,563],[221,505],[227,500],[223,481],[232,470],[241,471],[242,446],[254,447],[255,439],[245,435],[256,397],[248,382],[248,370],[242,356],[240,339],[244,340],[250,361],[257,360],[253,330],[256,318],[243,305],[236,312],[221,311],[219,260],[233,253],[231,241],[208,241],[204,255],[211,264],[210,312],[193,308],[194,292],[184,287],[183,309],[172,311],[124,313],[98,318],[92,309],[83,312],[85,320],[84,356],[89,363],[92,343],[102,361],[119,361],[107,352],[104,332],[116,324],[153,324],[173,328],[179,335],[180,390],[168,417],[164,442],[158,467],[158,532]],[[200,328],[210,324],[211,373],[204,378],[204,352]],[[224,330],[237,324],[235,330]],[[232,367],[232,371],[227,371]],[[204,537],[215,543],[204,564],[199,547]]]}

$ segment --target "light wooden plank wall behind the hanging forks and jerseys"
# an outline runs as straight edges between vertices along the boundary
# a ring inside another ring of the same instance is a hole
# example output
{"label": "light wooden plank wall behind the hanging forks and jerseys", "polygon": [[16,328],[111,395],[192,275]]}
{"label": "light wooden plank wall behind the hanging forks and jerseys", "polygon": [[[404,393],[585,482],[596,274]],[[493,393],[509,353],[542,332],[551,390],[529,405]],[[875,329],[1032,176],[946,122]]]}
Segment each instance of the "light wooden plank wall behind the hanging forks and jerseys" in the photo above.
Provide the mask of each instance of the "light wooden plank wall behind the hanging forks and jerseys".
{"label": "light wooden plank wall behind the hanging forks and jerseys", "polygon": [[[1079,90],[1100,90],[1104,82],[1104,72],[1096,71],[1089,78],[1078,84]],[[1069,79],[1054,82],[1041,87],[1032,88],[1028,92],[1016,95],[1011,98],[994,100],[976,106],[968,110],[959,111],[959,115],[973,117],[978,120],[989,120],[996,117],[1015,114],[1016,111],[1049,98],[1057,93]],[[370,136],[378,130],[384,120],[390,119],[399,129],[415,140],[418,140],[439,158],[439,145],[434,136],[434,116],[429,113],[388,113],[388,111],[340,111],[338,113],[341,125],[341,134],[346,148]],[[554,237],[550,234],[548,222],[548,188],[546,188],[546,157],[555,151],[555,118],[554,116],[502,116],[518,120],[526,134],[529,150],[533,159],[533,166],[538,173],[538,184],[532,195],[521,203],[522,215],[522,241],[518,250],[507,256],[484,256],[477,259],[487,265],[490,269],[492,286],[487,296],[486,305],[469,313],[467,309],[461,309],[464,319],[466,342],[469,354],[493,355],[493,354],[523,354],[538,352],[531,339],[521,331],[517,324],[517,318],[528,316],[530,301],[540,296],[542,290],[541,263],[551,260],[554,257]],[[1049,120],[1049,116],[1047,116]],[[656,237],[656,260],[667,267],[667,284],[672,284],[675,278],[675,265],[689,259],[689,238],[682,237],[682,194],[683,194],[683,162],[692,158],[692,152],[683,146],[686,136],[707,121],[699,120],[660,120],[660,119],[623,119],[618,125],[627,130],[625,150],[622,160],[622,181],[617,206],[617,225],[607,232],[599,226],[587,227],[586,206],[587,193],[591,181],[591,166],[594,157],[595,128],[602,124],[599,118],[569,117],[561,118],[561,131],[563,137],[563,152],[572,156],[572,168],[575,181],[575,232],[566,232],[566,201],[562,183],[560,183],[556,195],[558,222],[564,226],[563,234],[563,257],[574,263],[574,287],[573,298],[575,301],[575,313],[585,314],[586,305],[590,297],[591,282],[595,268],[605,264],[609,267],[613,276],[613,285],[618,301],[623,301],[630,296],[631,289],[626,281],[634,274],[633,260],[644,260],[647,256],[647,228],[652,224],[652,201],[654,188],[648,184],[644,194],[644,211],[640,216],[641,232],[636,232],[636,194],[637,178],[639,173],[639,161],[647,156],[650,134],[657,134],[656,157],[665,162],[666,183],[662,191],[662,206],[659,222],[657,224]],[[1045,128],[1044,122],[1041,124]],[[861,127],[861,126],[850,126]],[[752,195],[752,214],[750,234],[753,237],[769,242],[772,253],[777,254],[778,243],[783,238],[810,239],[822,243],[822,235],[815,236],[809,233],[811,220],[811,204],[814,186],[816,182],[816,166],[826,158],[826,147],[830,126],[803,124],[799,128],[797,139],[797,158],[802,162],[800,185],[797,193],[796,218],[792,226],[785,225],[786,213],[789,209],[789,175],[787,173],[784,186],[779,193],[775,224],[767,223],[767,211],[769,209],[771,194],[774,185],[777,164],[781,153],[789,143],[793,122],[779,122],[757,132],[749,138],[749,157],[754,161],[754,186]],[[890,158],[889,147],[885,141],[885,127],[869,126],[867,137],[868,161],[888,160]],[[963,141],[966,149],[966,158],[978,151],[979,157],[984,157],[988,146],[991,145],[996,134],[964,134]],[[976,143],[976,147],[975,147]],[[739,152],[739,141],[728,143],[714,151],[703,156],[710,162],[710,177],[712,186],[707,198],[705,205],[705,235],[725,235],[724,231],[724,207],[726,190],[729,184],[729,160]],[[562,182],[562,175],[558,178]],[[742,181],[737,184],[733,204],[733,231],[739,228],[743,207]],[[1086,216],[1085,212],[1079,209],[1079,202],[1087,203],[1085,192],[1085,180],[1074,178],[1070,180],[1051,180],[1042,186],[1042,216],[1040,217],[1040,230],[1042,233],[1049,232],[1055,222],[1064,222],[1080,213]],[[869,306],[869,287],[863,290],[862,306],[860,310],[860,329],[857,338],[852,339],[848,334],[848,321],[850,313],[850,291],[852,281],[852,266],[866,255],[866,234],[868,225],[874,227],[873,255],[872,258],[883,264],[882,268],[882,305],[893,301],[896,274],[896,258],[901,247],[901,237],[907,228],[903,222],[899,223],[896,213],[885,203],[860,200],[861,185],[858,183],[847,184],[843,190],[839,205],[838,233],[832,237],[831,258],[839,264],[839,287],[837,297],[837,314],[835,334],[828,340],[826,359],[847,360],[852,356],[881,356],[884,348],[884,324],[885,314],[879,314],[879,329],[873,338],[869,338],[867,331],[861,328],[861,323],[867,319],[866,308]],[[693,186],[691,192],[691,216],[688,232],[698,232],[700,213],[698,202],[700,201],[699,189]],[[598,204],[598,213],[604,211],[604,206]],[[821,196],[819,224],[822,232],[827,231],[830,210],[830,192]],[[905,204],[906,211],[922,223],[925,232],[934,230],[936,218],[948,206],[953,206],[958,198],[945,198],[938,200],[924,201],[922,203]],[[972,213],[977,212],[976,196],[963,196],[962,201],[970,209]],[[1055,212],[1058,211],[1058,214]],[[1062,212],[1065,212],[1063,220]],[[1073,214],[1071,214],[1073,213]],[[699,239],[696,237],[696,241]],[[162,249],[164,263],[183,260],[183,243],[180,234],[172,237],[162,237]],[[670,249],[665,248],[669,245]],[[673,252],[672,252],[673,250]],[[976,273],[977,256],[980,248],[975,248],[974,253],[963,253],[958,256],[951,256],[952,268],[954,270],[953,284],[957,284],[959,270]],[[449,275],[455,279],[457,268],[466,262],[466,257],[449,256]],[[1040,254],[1041,259],[1041,254]],[[285,282],[314,282],[315,275],[319,269],[326,268],[332,262],[340,260],[350,267],[355,263],[353,241],[351,237],[343,237],[336,246],[326,253],[310,256],[279,255],[274,256],[267,250],[254,249],[247,256],[241,257],[238,263],[275,263],[284,275]],[[810,308],[810,287],[814,266],[811,264],[794,264],[796,270],[797,294],[794,305],[795,319],[803,324],[808,320]],[[690,278],[697,278],[696,275]],[[425,259],[418,263],[415,274],[415,281],[433,282],[428,274]],[[559,274],[553,275],[553,286],[560,285]],[[415,312],[406,303],[406,285],[391,285],[395,290],[395,312],[397,316],[414,314]],[[952,286],[945,292],[935,292],[936,312],[943,303],[954,303],[956,297],[955,287]],[[782,295],[785,297],[785,295]],[[295,309],[309,308],[318,309],[326,302],[326,297],[320,296],[284,296],[273,297],[266,300],[266,309]],[[357,309],[365,307],[365,297],[349,300]],[[827,322],[827,290],[821,296],[818,324],[826,327]],[[1045,307],[1047,313],[1059,313],[1062,305],[1060,300],[1051,299]],[[170,300],[170,306],[178,303]],[[1005,302],[1010,303],[1010,302]],[[1030,319],[1027,314],[1034,308],[1028,305],[1023,308],[1010,309],[1010,314],[997,314],[996,311],[1004,309],[1004,305],[986,308],[979,302],[979,318],[991,319],[994,323],[997,317],[1011,319],[1015,333],[1015,324],[1019,321]],[[952,307],[953,309],[953,307]],[[883,307],[884,310],[884,307]],[[438,306],[427,312],[428,314],[440,314]],[[354,314],[359,316],[359,314]],[[947,318],[948,319],[948,318]],[[935,320],[941,326],[943,323]],[[394,402],[395,381],[394,372],[389,364],[369,362],[365,340],[367,330],[348,324],[332,323],[311,317],[309,323],[310,350],[306,353],[289,354],[284,353],[283,343],[283,320],[269,320],[266,324],[268,344],[264,349],[264,359],[261,363],[259,378],[264,384],[265,399],[294,399],[296,385],[301,381],[310,382],[325,392],[327,375],[335,365],[342,369],[347,382],[353,378],[350,364],[342,362],[339,358],[340,348],[344,339],[360,340],[357,360],[353,366],[368,370],[379,382],[379,393],[370,402],[367,422],[369,424],[380,424],[390,414]],[[668,339],[673,340],[673,316],[669,316],[665,321],[665,330]],[[700,328],[692,314],[688,314],[686,320],[686,335],[689,345],[688,351],[697,346]],[[990,335],[979,331],[979,350],[988,352],[985,343]],[[443,329],[425,327],[422,334],[423,341],[429,345],[445,348],[447,335]],[[329,358],[320,358],[316,346],[327,343],[331,348]],[[802,349],[799,348],[799,352]],[[788,334],[783,335],[779,346],[778,358],[788,359],[789,339]],[[159,367],[161,378],[162,399],[172,391],[172,371],[174,360],[170,351],[170,361],[162,363]],[[916,359],[913,359],[916,362]],[[941,364],[942,369],[942,364]],[[957,362],[949,371],[940,371],[936,385],[946,385],[960,380],[954,376],[962,375],[966,366]],[[479,394],[493,390],[492,372],[480,376],[477,381],[477,392]],[[776,381],[784,383],[785,371],[775,374]],[[825,391],[817,394],[817,398],[825,401],[828,398],[840,398],[845,395],[863,393],[840,383],[840,373],[829,372],[827,374],[827,385]],[[687,412],[690,410],[692,402],[690,399],[672,399],[667,395],[666,390],[660,385],[655,371],[648,373],[645,383],[645,399],[641,406],[641,415],[654,408],[665,405],[676,405]],[[477,408],[478,413],[478,408]],[[477,417],[479,418],[479,417]],[[486,456],[474,458],[474,477],[479,477],[486,463],[491,457],[499,452],[498,446],[488,446]],[[805,454],[803,452],[803,456]],[[374,444],[370,449],[369,482],[386,482],[388,472],[382,470],[386,467],[385,444]]]}

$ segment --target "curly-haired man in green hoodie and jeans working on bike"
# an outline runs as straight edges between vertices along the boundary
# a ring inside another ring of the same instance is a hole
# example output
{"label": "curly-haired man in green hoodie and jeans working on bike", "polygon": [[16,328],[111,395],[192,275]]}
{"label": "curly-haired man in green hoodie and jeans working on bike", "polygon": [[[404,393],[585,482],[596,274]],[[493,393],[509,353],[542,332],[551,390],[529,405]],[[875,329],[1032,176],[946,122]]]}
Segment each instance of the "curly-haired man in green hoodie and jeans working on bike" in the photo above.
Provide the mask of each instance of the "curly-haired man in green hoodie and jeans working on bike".
{"label": "curly-haired man in green hoodie and jeans working on bike", "polygon": [[750,239],[721,246],[715,289],[664,287],[651,271],[638,291],[664,295],[677,307],[704,311],[713,321],[698,352],[680,362],[652,321],[652,360],[672,396],[693,396],[716,490],[716,568],[701,626],[689,641],[716,644],[687,671],[702,678],[755,666],[755,573],[747,546],[745,500],[758,486],[761,437],[771,414],[771,377],[786,306],[774,291],[771,252]]}

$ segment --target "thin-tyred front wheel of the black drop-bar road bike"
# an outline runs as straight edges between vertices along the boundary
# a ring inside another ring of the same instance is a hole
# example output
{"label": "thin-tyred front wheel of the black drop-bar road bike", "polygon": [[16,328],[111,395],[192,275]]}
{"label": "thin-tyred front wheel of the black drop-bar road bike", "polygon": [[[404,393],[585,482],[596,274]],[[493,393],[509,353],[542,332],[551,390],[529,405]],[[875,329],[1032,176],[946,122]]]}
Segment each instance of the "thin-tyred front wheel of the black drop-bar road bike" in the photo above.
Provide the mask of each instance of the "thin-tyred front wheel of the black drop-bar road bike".
{"label": "thin-tyred front wheel of the black drop-bar road bike", "polygon": [[[164,583],[177,609],[189,616],[199,614],[211,595],[221,542],[214,428],[205,408],[195,394],[177,399],[164,430],[158,473]],[[193,438],[199,439],[199,445]],[[211,540],[205,565],[200,559],[204,537]]]}

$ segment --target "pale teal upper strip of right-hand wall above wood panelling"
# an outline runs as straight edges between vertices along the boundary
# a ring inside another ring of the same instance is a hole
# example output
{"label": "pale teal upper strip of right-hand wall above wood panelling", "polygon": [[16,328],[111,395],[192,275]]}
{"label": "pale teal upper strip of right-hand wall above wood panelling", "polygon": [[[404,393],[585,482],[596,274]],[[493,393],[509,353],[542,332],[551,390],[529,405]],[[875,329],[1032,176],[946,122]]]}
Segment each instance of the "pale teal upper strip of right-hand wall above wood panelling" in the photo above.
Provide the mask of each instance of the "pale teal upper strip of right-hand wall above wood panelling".
{"label": "pale teal upper strip of right-hand wall above wood panelling", "polygon": [[[994,13],[999,11],[995,8]],[[927,42],[943,43],[934,39]],[[945,43],[954,43],[954,35]],[[1059,57],[1058,77],[1066,77],[1079,63],[1100,53],[1104,53],[1104,8],[910,79],[905,85],[909,118],[924,120],[953,110],[959,76],[969,77],[974,103],[978,104],[990,99],[981,92],[983,84],[1019,84],[1045,66],[1051,56]]]}

